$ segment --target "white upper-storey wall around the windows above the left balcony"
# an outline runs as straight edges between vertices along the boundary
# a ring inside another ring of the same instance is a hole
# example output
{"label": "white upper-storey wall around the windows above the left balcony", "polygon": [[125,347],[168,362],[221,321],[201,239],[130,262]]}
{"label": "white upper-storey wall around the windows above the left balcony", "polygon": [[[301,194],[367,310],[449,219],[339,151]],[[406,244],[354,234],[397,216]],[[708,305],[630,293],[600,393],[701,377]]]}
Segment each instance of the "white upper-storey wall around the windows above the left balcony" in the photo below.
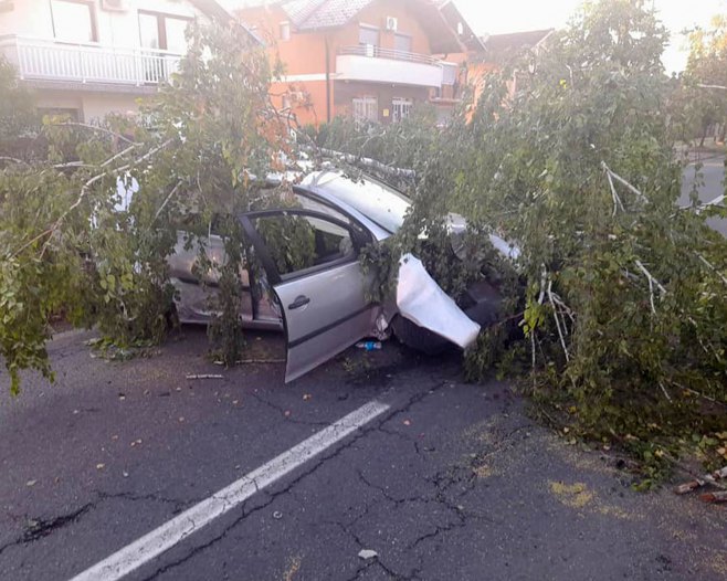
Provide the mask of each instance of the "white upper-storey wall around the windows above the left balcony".
{"label": "white upper-storey wall around the windows above the left balcony", "polygon": [[[116,46],[138,46],[139,9],[193,18],[197,12],[185,0],[126,0],[127,10],[112,11],[101,8],[101,0],[91,0],[94,6],[98,42]],[[53,39],[53,21],[49,0],[15,0],[13,9],[0,12],[0,34],[18,34]]]}

